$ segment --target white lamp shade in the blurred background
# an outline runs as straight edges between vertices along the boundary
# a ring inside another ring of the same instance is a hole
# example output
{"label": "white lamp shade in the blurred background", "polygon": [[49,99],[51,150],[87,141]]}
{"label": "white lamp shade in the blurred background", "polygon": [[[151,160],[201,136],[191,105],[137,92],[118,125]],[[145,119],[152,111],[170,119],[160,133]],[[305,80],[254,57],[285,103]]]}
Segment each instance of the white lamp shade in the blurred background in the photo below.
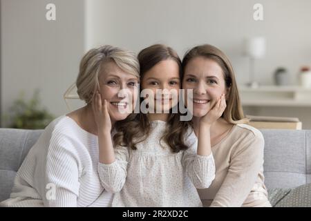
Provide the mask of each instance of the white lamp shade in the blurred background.
{"label": "white lamp shade in the blurred background", "polygon": [[265,38],[252,37],[245,41],[245,54],[252,58],[262,58],[265,56]]}

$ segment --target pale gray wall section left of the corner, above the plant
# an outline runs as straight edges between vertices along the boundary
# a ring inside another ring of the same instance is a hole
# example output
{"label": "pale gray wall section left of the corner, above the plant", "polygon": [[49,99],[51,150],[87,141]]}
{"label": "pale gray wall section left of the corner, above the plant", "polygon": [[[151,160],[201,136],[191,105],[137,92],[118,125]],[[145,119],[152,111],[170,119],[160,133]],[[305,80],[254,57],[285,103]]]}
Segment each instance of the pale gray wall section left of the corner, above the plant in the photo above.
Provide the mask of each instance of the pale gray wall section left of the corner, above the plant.
{"label": "pale gray wall section left of the corner, above the plant", "polygon": [[[56,21],[46,20],[48,3],[55,3]],[[1,0],[2,114],[21,90],[30,97],[35,88],[51,113],[66,113],[63,94],[83,53],[83,0]]]}

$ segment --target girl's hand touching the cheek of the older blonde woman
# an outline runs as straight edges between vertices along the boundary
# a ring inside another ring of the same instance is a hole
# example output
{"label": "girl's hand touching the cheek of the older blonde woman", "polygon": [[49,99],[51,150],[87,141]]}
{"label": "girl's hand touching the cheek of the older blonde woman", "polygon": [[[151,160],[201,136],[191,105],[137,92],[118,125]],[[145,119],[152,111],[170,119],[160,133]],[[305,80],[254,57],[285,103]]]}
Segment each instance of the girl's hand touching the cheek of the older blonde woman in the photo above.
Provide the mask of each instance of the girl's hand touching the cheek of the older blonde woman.
{"label": "girl's hand touching the cheek of the older blonde woman", "polygon": [[108,113],[108,104],[106,99],[104,99],[104,104],[102,104],[102,96],[97,91],[93,98],[92,109],[97,124],[97,131],[111,133],[111,119]]}

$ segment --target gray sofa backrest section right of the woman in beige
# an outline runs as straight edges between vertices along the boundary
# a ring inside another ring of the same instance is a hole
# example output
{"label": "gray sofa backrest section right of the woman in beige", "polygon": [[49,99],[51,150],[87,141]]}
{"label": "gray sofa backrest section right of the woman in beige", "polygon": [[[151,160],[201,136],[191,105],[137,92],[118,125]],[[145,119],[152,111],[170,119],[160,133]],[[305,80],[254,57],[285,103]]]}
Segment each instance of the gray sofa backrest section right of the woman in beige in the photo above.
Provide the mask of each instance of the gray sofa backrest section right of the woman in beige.
{"label": "gray sofa backrest section right of the woman in beige", "polygon": [[292,188],[311,182],[311,131],[261,130],[265,138],[267,189]]}

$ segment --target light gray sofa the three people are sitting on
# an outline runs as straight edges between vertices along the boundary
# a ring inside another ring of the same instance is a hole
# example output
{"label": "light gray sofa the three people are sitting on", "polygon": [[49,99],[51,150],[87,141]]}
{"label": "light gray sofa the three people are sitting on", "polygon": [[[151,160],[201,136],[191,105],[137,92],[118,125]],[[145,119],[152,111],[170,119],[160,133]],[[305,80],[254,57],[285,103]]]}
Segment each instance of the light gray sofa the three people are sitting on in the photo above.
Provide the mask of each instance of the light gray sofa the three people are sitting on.
{"label": "light gray sofa the three people are sitting on", "polygon": [[[311,131],[261,130],[265,137],[267,189],[311,183]],[[0,202],[9,197],[16,172],[42,131],[0,128]]]}

